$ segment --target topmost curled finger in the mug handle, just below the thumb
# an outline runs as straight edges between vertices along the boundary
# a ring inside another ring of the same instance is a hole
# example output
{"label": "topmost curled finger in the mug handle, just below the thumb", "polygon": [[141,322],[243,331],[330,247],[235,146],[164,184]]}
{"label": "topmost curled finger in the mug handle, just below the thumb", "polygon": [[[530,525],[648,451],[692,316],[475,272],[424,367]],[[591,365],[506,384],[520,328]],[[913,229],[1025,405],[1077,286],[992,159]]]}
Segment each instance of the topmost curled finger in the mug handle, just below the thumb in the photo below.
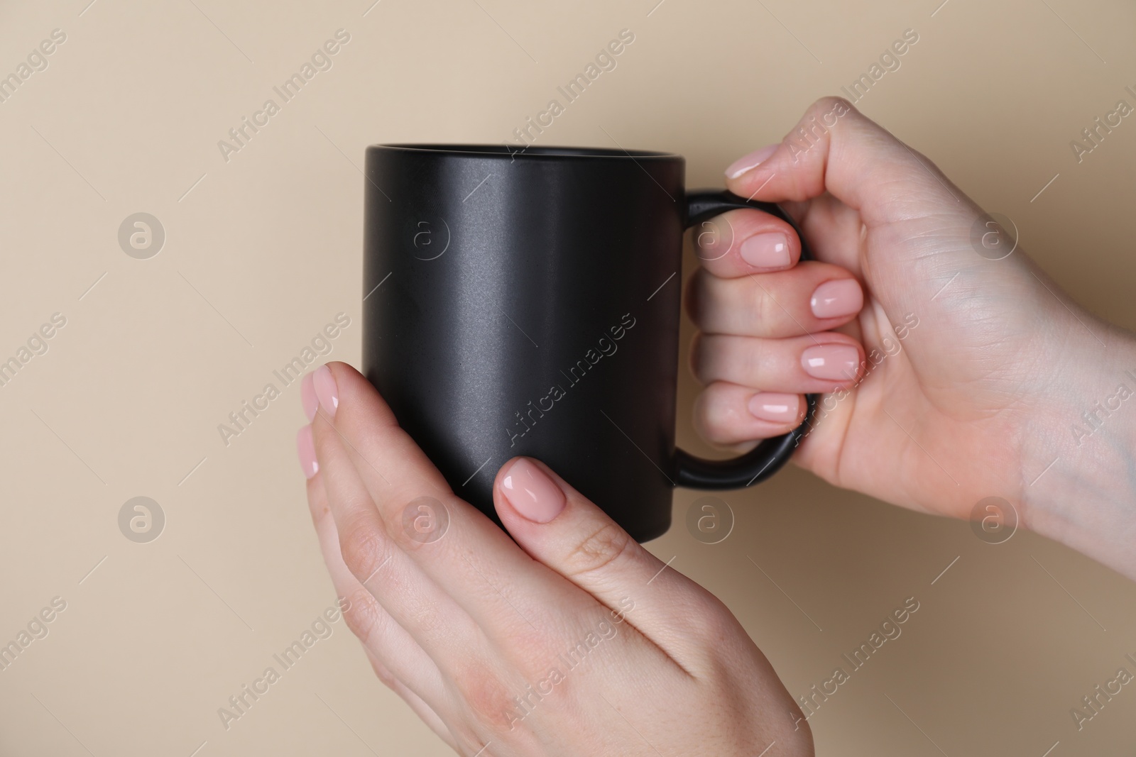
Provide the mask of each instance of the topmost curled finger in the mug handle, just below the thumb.
{"label": "topmost curled finger in the mug handle, just below the thumb", "polygon": [[719,278],[780,271],[801,259],[793,227],[760,210],[728,210],[693,229],[699,263]]}

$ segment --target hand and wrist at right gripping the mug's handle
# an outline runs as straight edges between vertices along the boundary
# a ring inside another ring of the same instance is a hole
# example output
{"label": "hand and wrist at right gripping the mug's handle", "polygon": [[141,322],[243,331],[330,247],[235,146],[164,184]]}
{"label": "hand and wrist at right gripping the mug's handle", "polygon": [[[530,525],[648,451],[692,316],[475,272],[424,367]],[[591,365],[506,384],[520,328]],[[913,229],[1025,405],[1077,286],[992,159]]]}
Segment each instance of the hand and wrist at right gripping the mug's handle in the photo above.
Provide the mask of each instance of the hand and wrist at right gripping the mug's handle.
{"label": "hand and wrist at right gripping the mug's handle", "polygon": [[[1136,409],[1120,409],[1136,392],[1129,335],[1070,301],[930,161],[845,100],[815,103],[779,144],[730,166],[727,186],[782,203],[817,262],[794,264],[791,227],[757,210],[696,236],[703,436],[751,447],[797,422],[794,395],[827,392],[799,464],[957,518],[1002,497],[1030,528],[1136,578]],[[850,370],[857,343],[867,360]]]}

